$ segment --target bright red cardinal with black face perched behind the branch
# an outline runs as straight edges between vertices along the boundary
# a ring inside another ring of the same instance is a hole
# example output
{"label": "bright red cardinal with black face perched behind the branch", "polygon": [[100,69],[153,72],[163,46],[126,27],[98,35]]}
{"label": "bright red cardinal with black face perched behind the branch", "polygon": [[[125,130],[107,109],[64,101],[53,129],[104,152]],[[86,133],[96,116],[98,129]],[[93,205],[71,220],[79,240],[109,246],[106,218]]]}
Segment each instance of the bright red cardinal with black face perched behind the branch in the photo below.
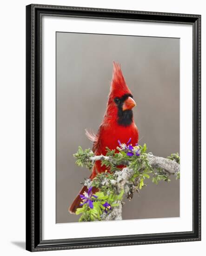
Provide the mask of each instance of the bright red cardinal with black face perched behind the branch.
{"label": "bright red cardinal with black face perched behind the branch", "polygon": [[[106,155],[106,147],[115,149],[119,146],[118,140],[126,143],[130,138],[133,145],[138,143],[138,129],[133,120],[132,108],[136,106],[133,95],[126,85],[121,72],[120,64],[113,62],[113,77],[108,96],[106,112],[97,135],[89,134],[87,137],[93,141],[93,152],[95,155]],[[118,152],[118,151],[117,151]],[[105,172],[106,167],[96,161],[93,167],[91,180],[100,172]],[[80,194],[87,190],[84,186],[69,208],[70,213],[75,213],[80,207]],[[93,188],[93,193],[98,189]]]}

